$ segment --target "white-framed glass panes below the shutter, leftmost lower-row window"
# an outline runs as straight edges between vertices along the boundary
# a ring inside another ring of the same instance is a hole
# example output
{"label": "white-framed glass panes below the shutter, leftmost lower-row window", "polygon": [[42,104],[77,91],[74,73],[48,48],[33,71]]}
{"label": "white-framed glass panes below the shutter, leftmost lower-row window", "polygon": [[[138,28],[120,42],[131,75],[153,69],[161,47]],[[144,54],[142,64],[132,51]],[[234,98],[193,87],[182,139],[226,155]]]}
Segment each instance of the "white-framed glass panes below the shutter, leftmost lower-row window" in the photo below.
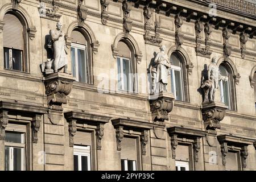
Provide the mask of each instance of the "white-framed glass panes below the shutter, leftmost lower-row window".
{"label": "white-framed glass panes below the shutter, leftmost lower-row window", "polygon": [[5,137],[5,170],[25,170],[25,133],[6,131]]}

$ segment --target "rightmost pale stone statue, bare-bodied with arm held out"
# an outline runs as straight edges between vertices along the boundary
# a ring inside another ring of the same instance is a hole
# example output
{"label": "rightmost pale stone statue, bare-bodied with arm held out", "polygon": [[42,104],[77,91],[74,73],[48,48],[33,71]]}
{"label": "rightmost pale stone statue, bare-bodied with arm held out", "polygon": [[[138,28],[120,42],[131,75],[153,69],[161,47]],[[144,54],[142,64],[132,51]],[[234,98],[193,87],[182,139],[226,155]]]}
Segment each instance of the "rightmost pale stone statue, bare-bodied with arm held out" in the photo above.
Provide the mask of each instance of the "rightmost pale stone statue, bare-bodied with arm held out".
{"label": "rightmost pale stone statue, bare-bodied with arm held out", "polygon": [[216,89],[218,89],[218,81],[226,81],[228,79],[220,75],[220,70],[218,69],[217,66],[216,57],[212,58],[212,63],[210,63],[208,66],[207,76],[207,80],[205,80],[201,85],[201,88],[204,89],[203,103],[213,102],[215,98]]}

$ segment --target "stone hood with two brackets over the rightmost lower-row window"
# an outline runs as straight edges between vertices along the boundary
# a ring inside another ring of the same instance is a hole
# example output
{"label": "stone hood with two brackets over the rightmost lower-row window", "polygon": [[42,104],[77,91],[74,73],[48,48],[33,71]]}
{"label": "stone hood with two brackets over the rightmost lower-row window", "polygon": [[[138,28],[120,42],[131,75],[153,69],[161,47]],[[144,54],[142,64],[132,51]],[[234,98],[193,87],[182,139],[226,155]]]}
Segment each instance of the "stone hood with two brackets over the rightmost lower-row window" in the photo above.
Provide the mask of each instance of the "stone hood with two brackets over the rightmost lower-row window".
{"label": "stone hood with two brackets over the rightmost lower-row window", "polygon": [[234,135],[218,135],[218,142],[221,145],[222,154],[222,164],[226,165],[226,154],[228,150],[238,150],[240,151],[242,168],[246,168],[246,159],[248,157],[247,146],[249,144],[254,144],[256,141],[250,138],[237,137]]}

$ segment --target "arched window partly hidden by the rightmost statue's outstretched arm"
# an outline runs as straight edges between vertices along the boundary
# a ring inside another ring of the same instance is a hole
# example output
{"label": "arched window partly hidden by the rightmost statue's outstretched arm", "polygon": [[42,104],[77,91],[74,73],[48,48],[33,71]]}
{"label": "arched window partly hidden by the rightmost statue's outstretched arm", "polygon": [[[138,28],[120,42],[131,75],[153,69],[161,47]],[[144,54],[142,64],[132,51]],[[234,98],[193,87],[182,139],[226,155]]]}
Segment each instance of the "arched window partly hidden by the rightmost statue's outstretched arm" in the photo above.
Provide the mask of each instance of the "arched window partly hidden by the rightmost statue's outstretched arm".
{"label": "arched window partly hidden by the rightmost statue's outstretched arm", "polygon": [[225,63],[221,63],[220,67],[220,99],[226,106],[228,106],[229,110],[235,110],[235,98],[234,98],[234,78],[232,74],[232,70]]}

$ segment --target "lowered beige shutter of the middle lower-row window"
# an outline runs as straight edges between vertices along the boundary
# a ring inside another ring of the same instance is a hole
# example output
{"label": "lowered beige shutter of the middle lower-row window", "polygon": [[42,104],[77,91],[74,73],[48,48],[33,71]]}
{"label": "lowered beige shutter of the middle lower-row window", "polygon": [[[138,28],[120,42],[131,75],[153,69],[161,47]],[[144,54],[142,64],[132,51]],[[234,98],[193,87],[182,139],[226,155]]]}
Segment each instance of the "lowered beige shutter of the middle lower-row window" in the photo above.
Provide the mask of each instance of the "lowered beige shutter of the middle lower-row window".
{"label": "lowered beige shutter of the middle lower-row window", "polygon": [[121,159],[137,160],[137,147],[135,138],[123,137],[121,142]]}

